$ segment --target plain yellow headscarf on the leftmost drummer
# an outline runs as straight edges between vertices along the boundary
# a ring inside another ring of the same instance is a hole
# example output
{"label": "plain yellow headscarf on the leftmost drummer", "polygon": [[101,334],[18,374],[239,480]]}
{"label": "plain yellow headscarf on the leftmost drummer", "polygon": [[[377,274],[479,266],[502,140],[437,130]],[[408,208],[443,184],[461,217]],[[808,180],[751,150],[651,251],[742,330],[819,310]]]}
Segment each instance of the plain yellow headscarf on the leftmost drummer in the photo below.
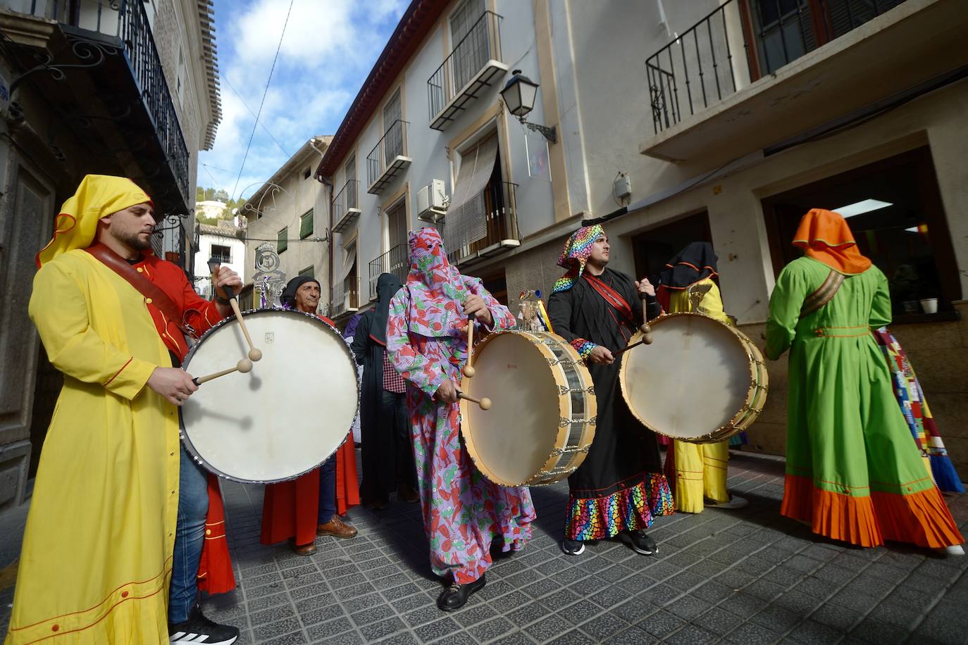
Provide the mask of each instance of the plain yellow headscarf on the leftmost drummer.
{"label": "plain yellow headscarf on the leftmost drummer", "polygon": [[37,253],[37,266],[69,250],[87,249],[94,244],[101,218],[144,203],[155,207],[148,193],[126,177],[85,175],[74,196],[64,202],[58,211],[54,220],[54,236]]}

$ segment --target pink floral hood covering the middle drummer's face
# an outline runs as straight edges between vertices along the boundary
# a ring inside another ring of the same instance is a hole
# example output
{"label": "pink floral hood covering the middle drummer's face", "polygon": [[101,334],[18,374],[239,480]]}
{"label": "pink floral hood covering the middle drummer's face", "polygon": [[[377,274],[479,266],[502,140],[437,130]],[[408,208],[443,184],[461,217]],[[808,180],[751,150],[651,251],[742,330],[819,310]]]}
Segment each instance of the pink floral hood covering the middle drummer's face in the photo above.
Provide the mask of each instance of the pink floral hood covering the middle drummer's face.
{"label": "pink floral hood covering the middle drummer's face", "polygon": [[470,295],[467,282],[447,261],[447,251],[436,228],[411,231],[409,330],[428,337],[463,336],[468,319],[464,301]]}

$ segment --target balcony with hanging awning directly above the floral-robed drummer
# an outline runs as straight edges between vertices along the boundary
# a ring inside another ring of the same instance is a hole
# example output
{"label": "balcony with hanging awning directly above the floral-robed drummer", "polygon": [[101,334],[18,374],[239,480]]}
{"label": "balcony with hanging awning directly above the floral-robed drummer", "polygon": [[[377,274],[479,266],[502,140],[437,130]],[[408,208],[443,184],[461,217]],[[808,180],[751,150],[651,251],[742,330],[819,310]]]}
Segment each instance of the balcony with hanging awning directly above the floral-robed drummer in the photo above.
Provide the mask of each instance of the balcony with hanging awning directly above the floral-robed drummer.
{"label": "balcony with hanging awning directly above the floral-robed drummer", "polygon": [[[521,246],[518,233],[517,184],[491,182],[461,207],[462,212],[448,212],[443,219],[444,248],[448,241],[455,247],[447,253],[451,264],[469,265],[497,253]],[[469,231],[469,235],[461,235]],[[468,239],[453,244],[457,236]]]}

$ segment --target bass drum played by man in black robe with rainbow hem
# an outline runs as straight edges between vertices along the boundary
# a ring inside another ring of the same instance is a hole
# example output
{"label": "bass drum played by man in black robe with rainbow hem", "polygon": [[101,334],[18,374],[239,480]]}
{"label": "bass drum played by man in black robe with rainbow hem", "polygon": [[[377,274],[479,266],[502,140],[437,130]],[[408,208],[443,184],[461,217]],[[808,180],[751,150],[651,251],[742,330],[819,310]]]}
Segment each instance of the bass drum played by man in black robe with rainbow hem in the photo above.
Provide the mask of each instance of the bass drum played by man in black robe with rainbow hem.
{"label": "bass drum played by man in black robe with rainbow hem", "polygon": [[621,396],[643,425],[702,444],[729,439],[756,421],[769,376],[752,340],[701,313],[672,313],[649,324],[652,343],[624,352],[619,372]]}

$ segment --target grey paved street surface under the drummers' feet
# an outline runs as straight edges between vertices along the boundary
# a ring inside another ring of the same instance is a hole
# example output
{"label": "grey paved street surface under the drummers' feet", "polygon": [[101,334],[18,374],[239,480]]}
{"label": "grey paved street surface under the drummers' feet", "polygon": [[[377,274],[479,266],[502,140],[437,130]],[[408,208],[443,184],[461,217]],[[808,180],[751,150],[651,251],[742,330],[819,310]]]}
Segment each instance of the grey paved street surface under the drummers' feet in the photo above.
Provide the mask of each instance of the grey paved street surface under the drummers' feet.
{"label": "grey paved street surface under the drummers' feet", "polygon": [[[224,484],[239,587],[203,605],[244,643],[968,642],[968,557],[816,540],[779,516],[782,475],[780,459],[732,454],[730,487],[750,506],[660,518],[651,557],[617,542],[563,555],[567,485],[532,488],[533,540],[451,614],[435,605],[416,505],[353,509],[357,538],[298,557],[258,543],[259,486]],[[965,532],[968,495],[947,500]]]}

